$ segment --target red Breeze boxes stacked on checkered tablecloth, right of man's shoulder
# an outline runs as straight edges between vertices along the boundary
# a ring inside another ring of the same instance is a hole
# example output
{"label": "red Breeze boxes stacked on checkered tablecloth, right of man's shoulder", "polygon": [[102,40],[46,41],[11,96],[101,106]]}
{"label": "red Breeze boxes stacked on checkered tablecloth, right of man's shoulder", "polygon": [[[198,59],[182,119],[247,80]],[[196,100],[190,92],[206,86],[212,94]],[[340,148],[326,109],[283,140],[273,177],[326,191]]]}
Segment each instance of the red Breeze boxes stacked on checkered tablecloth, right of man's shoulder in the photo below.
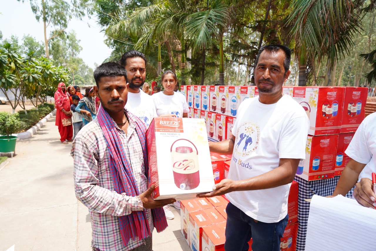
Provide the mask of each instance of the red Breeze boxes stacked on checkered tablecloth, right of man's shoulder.
{"label": "red Breeze boxes stacked on checkered tablecloth, right of man's shoulder", "polygon": [[365,87],[284,87],[306,111],[309,132],[306,159],[297,176],[306,181],[341,175],[349,157],[344,153],[364,119],[368,89]]}

